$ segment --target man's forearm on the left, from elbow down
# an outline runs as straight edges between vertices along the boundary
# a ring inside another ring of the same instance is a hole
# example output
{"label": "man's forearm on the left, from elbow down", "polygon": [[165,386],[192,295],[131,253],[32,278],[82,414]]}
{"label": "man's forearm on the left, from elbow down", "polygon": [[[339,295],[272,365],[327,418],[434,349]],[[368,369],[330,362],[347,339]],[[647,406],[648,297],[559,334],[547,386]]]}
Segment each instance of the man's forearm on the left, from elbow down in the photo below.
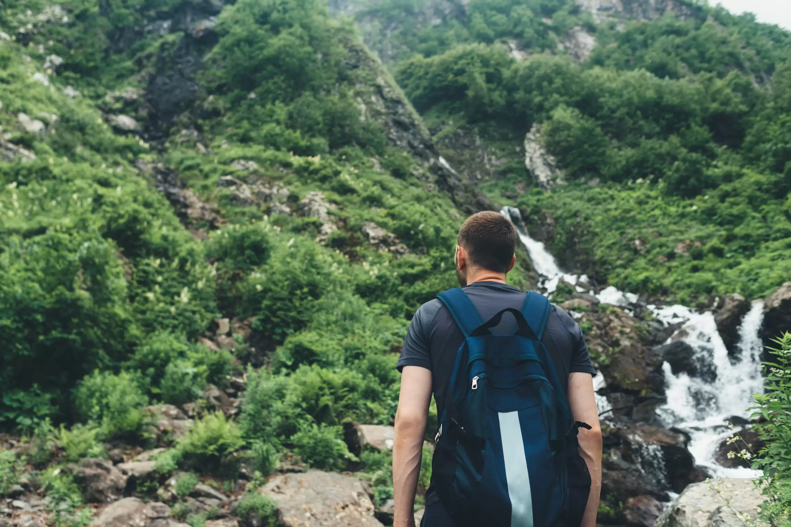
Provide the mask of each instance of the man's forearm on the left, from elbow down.
{"label": "man's forearm on the left, from elbow down", "polygon": [[426,420],[405,420],[395,416],[393,442],[394,527],[414,525],[414,494],[418,487]]}

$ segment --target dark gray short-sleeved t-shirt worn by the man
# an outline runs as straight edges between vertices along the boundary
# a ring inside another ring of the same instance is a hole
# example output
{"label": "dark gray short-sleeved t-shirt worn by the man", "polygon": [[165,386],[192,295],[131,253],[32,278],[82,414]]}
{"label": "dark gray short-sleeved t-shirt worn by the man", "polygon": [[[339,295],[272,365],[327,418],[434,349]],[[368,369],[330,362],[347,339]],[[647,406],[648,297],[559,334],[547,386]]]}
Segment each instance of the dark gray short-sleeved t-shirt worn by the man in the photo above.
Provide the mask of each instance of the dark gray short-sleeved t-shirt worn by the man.
{"label": "dark gray short-sleeved t-shirt worn by the man", "polygon": [[[520,309],[524,303],[524,291],[499,282],[475,282],[463,289],[484,321],[506,307]],[[502,322],[492,329],[492,333],[513,333],[516,329],[514,318],[505,315]],[[404,366],[420,366],[431,371],[437,416],[441,416],[445,409],[445,394],[448,393],[456,352],[463,341],[464,334],[456,326],[448,308],[440,299],[433,299],[424,303],[414,314],[403,342],[398,371],[402,371]],[[563,359],[563,364],[555,364],[555,368],[564,390],[570,373],[581,371],[596,375],[580,326],[566,311],[554,304],[549,311],[541,343],[550,356]]]}

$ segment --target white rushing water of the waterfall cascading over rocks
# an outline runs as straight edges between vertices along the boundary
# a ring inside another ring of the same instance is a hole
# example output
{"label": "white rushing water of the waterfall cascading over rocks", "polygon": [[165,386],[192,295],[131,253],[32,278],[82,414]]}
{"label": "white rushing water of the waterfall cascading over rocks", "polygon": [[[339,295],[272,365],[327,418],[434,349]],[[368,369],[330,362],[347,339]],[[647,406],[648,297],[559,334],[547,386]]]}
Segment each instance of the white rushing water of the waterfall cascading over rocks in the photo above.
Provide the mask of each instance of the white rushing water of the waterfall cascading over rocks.
{"label": "white rushing water of the waterfall cascading over rocks", "polygon": [[[513,220],[514,224],[521,223],[520,213],[513,207],[504,207],[501,213]],[[528,250],[533,267],[541,275],[539,286],[546,290],[545,294],[554,292],[560,280],[575,285],[577,292],[588,292],[588,277],[563,273],[543,243],[532,239],[518,227],[517,232]],[[593,291],[589,292],[594,294]],[[638,301],[638,295],[621,292],[613,286],[603,289],[595,296],[601,303],[619,307],[628,307]],[[693,359],[698,366],[699,375],[691,377],[681,372],[673,375],[670,365],[664,363],[667,402],[657,408],[660,420],[665,426],[678,427],[690,435],[689,450],[696,463],[709,469],[713,476],[758,476],[751,469],[725,469],[717,465],[714,454],[722,440],[732,434],[726,421],[732,417],[747,418],[752,394],[763,390],[763,344],[760,338],[763,301],[755,301],[750,311],[744,315],[739,328],[737,352],[730,357],[717,331],[712,312],[698,313],[689,307],[678,305],[648,308],[664,326],[681,323],[679,329],[668,339],[668,343],[683,341],[690,344],[694,350]],[[596,392],[604,390],[604,376],[596,375],[594,379]],[[596,406],[600,413],[611,409],[607,397],[599,393],[596,393]],[[641,455],[642,465],[650,465],[658,459],[657,455],[656,452],[645,450]]]}

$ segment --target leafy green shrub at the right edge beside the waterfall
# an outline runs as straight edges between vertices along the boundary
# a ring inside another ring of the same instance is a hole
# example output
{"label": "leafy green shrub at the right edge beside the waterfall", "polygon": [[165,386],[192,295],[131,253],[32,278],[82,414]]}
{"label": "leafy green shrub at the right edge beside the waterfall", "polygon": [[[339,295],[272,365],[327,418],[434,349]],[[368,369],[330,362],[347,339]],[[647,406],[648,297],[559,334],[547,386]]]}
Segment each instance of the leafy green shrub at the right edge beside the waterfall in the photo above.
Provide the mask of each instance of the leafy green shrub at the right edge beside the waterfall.
{"label": "leafy green shrub at the right edge beside the waterfall", "polygon": [[751,419],[763,419],[753,430],[766,446],[753,461],[753,469],[763,471],[766,501],[760,506],[761,518],[769,525],[791,525],[791,333],[775,340],[770,348],[773,362],[766,363],[764,393],[756,393]]}

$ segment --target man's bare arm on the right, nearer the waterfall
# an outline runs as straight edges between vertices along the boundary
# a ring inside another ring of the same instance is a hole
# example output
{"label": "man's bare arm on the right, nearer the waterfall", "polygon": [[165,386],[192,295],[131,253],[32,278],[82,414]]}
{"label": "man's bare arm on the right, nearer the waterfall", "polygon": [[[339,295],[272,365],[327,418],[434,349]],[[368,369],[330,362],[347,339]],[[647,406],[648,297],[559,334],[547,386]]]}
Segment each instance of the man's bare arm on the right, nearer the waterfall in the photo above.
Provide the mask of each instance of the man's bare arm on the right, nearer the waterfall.
{"label": "man's bare arm on the right, nearer the waterfall", "polygon": [[593,376],[574,372],[569,377],[569,405],[574,420],[588,423],[590,430],[580,428],[580,455],[591,473],[591,493],[581,527],[596,527],[601,492],[601,426],[596,397],[593,394]]}

